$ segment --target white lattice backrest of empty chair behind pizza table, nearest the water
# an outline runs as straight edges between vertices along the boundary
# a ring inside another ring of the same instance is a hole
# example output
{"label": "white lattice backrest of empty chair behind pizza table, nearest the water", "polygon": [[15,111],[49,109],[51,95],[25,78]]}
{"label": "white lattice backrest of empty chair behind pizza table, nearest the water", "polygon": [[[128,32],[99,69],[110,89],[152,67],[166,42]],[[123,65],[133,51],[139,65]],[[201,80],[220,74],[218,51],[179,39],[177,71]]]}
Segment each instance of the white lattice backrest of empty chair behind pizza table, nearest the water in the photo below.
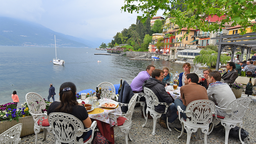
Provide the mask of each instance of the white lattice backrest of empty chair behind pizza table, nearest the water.
{"label": "white lattice backrest of empty chair behind pizza table, nearest the water", "polygon": [[101,87],[101,97],[107,99],[114,99],[116,97],[116,89],[115,86],[108,82],[103,82],[98,85]]}

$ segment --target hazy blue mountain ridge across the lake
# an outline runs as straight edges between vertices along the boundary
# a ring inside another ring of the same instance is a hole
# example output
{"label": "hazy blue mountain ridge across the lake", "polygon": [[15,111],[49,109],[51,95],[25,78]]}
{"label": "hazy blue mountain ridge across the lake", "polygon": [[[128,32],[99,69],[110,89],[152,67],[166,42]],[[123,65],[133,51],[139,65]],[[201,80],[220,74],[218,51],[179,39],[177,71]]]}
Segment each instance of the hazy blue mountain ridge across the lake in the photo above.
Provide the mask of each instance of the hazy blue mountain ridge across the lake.
{"label": "hazy blue mountain ridge across the lake", "polygon": [[101,44],[55,32],[38,23],[14,18],[0,17],[0,26],[0,45],[52,47],[54,46],[54,35],[56,35],[56,46],[59,47],[91,48]]}

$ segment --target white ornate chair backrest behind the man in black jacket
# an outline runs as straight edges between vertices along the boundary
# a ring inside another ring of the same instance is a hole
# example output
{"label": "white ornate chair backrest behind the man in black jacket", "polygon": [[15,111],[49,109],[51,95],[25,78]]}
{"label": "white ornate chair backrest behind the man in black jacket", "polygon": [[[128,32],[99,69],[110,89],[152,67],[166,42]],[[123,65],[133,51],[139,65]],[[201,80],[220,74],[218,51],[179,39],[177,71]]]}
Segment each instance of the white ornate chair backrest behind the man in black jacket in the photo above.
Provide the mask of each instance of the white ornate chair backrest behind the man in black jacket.
{"label": "white ornate chair backrest behind the man in black jacket", "polygon": [[157,102],[159,101],[156,94],[147,87],[144,87],[143,90],[144,90],[144,94],[145,94],[147,107],[152,110],[155,110],[155,106],[158,105]]}

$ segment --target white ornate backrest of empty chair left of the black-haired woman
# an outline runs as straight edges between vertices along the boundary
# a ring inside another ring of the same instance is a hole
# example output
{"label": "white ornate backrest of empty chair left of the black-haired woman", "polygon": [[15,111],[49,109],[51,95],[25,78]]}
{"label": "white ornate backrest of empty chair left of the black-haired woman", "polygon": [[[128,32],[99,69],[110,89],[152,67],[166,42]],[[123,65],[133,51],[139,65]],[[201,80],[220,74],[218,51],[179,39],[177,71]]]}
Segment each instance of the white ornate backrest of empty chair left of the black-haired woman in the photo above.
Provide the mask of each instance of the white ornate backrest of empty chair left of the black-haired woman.
{"label": "white ornate backrest of empty chair left of the black-haired woman", "polygon": [[[42,110],[46,108],[44,99],[36,92],[28,92],[26,94],[26,102],[28,105],[29,113],[32,114],[43,114]],[[46,114],[47,112],[44,111]],[[38,121],[39,116],[32,115],[35,122]],[[45,117],[47,118],[47,117]]]}

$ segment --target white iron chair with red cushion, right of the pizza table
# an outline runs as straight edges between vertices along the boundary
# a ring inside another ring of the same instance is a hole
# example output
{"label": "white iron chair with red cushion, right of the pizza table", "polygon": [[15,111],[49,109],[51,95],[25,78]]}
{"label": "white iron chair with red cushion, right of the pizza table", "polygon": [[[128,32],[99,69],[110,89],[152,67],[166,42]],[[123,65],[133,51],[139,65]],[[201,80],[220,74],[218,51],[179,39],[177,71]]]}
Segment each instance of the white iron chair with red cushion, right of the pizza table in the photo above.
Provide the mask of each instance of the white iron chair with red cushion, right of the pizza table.
{"label": "white iron chair with red cushion, right of the pizza table", "polygon": [[116,113],[108,114],[109,118],[112,118],[115,120],[116,127],[120,128],[121,132],[124,132],[126,144],[128,144],[128,137],[132,141],[132,139],[129,136],[129,131],[131,129],[132,114],[133,114],[137,97],[138,97],[138,94],[135,93],[132,96],[131,100],[129,101],[129,104],[119,103],[119,105],[121,106],[128,106],[128,111],[126,114],[116,114]]}

